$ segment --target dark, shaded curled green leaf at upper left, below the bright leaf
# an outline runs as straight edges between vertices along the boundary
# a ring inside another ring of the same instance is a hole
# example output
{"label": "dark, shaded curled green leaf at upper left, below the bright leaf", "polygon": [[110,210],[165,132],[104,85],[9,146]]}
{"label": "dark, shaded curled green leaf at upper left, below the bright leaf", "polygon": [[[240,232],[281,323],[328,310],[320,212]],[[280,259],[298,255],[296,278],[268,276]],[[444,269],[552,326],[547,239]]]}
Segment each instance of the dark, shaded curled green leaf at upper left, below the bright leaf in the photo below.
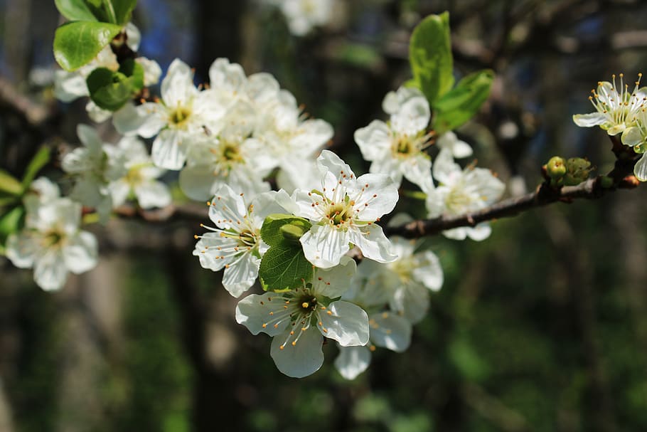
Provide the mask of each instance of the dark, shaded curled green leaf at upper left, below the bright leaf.
{"label": "dark, shaded curled green leaf at upper left, below the bright leaf", "polygon": [[96,68],[88,75],[90,99],[104,110],[116,111],[144,86],[144,68],[129,59],[119,71]]}

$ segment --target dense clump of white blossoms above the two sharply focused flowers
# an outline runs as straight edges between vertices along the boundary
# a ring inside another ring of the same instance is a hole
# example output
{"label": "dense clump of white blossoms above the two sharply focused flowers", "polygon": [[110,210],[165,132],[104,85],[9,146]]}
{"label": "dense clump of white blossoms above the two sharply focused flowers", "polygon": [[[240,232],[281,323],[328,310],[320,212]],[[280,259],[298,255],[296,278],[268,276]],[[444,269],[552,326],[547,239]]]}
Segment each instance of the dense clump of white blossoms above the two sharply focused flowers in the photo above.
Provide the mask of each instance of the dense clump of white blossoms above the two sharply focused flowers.
{"label": "dense clump of white blossoms above the two sharply focused flowers", "polygon": [[161,99],[127,105],[115,113],[114,126],[125,135],[155,137],[154,164],[181,170],[180,187],[192,199],[208,199],[223,184],[268,191],[264,177],[277,168],[279,179],[287,174],[300,184],[290,168],[331,139],[331,125],[304,118],[294,96],[267,73],[247,77],[240,65],[218,58],[209,77],[208,86],[196,88],[188,65],[174,60]]}

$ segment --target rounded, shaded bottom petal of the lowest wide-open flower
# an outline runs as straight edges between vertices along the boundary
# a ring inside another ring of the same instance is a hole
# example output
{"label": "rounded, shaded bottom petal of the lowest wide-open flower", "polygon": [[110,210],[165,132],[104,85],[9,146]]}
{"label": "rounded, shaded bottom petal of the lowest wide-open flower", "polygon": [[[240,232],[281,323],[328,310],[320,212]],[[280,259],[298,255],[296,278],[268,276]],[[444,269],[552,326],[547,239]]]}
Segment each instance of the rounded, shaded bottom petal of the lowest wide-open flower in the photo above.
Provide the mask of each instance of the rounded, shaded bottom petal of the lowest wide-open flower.
{"label": "rounded, shaded bottom petal of the lowest wide-open flower", "polygon": [[[289,332],[279,334],[272,340],[269,354],[274,359],[277,369],[287,376],[303,378],[317,372],[323,364],[323,337],[318,330],[310,327],[301,334],[296,344],[285,341]],[[284,347],[281,349],[281,347]]]}

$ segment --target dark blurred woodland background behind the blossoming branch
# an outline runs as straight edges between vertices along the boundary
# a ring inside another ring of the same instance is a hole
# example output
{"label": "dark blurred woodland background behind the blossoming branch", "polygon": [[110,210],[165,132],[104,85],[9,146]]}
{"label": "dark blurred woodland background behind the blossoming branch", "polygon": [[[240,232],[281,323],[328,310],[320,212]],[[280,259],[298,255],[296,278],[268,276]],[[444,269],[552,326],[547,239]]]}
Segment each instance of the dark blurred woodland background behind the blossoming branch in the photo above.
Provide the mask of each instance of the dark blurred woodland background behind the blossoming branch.
{"label": "dark blurred woodland background behind the blossoming branch", "polygon": [[[410,78],[413,26],[444,10],[456,75],[496,71],[458,133],[508,195],[538,185],[554,154],[611,169],[606,133],[571,117],[592,111],[599,80],[647,65],[641,0],[340,0],[305,38],[252,1],[140,0],[133,21],[162,68],[180,57],[206,80],[225,56],[273,73],[361,173],[353,132],[383,118]],[[85,100],[53,100],[59,23],[53,1],[0,0],[0,167],[15,174],[89,122]],[[407,352],[378,350],[351,382],[334,344],[313,376],[277,371],[269,337],[235,323],[219,274],[191,256],[196,221],[92,226],[100,265],[58,293],[0,258],[0,431],[647,431],[646,202],[619,191],[496,221],[482,243],[429,238],[445,272],[429,315]]]}

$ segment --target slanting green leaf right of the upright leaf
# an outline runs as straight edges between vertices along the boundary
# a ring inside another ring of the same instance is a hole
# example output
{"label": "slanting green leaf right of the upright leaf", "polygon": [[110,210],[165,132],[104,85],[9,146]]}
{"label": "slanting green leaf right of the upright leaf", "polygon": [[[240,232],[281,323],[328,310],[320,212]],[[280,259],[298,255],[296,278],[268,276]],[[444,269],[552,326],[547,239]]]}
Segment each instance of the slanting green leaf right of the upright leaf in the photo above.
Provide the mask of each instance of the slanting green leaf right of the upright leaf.
{"label": "slanting green leaf right of the upright leaf", "polygon": [[494,73],[489,69],[471,73],[460,80],[433,105],[434,130],[440,135],[474,117],[490,95],[493,80]]}

